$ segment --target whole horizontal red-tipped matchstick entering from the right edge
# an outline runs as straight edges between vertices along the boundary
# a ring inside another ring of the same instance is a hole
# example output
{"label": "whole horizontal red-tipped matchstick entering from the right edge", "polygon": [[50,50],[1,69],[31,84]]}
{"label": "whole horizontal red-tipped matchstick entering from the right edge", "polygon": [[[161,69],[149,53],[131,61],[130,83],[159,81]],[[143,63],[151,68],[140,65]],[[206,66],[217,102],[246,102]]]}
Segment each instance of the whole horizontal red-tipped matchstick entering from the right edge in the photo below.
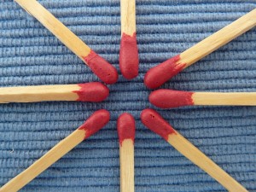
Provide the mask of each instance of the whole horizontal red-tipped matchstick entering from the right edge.
{"label": "whole horizontal red-tipped matchstick entering from the right edge", "polygon": [[149,102],[158,108],[178,108],[192,105],[255,106],[256,92],[188,92],[154,90]]}

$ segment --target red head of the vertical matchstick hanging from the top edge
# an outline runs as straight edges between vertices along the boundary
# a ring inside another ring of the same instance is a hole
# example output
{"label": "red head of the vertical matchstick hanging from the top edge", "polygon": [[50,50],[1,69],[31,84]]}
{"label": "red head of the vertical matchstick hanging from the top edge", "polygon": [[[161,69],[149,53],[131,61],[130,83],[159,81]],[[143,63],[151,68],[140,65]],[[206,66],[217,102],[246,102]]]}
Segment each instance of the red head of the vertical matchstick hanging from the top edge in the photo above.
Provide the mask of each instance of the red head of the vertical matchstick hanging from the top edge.
{"label": "red head of the vertical matchstick hanging from the top edge", "polygon": [[138,65],[136,32],[132,36],[123,32],[119,51],[119,67],[125,79],[134,79],[137,77]]}

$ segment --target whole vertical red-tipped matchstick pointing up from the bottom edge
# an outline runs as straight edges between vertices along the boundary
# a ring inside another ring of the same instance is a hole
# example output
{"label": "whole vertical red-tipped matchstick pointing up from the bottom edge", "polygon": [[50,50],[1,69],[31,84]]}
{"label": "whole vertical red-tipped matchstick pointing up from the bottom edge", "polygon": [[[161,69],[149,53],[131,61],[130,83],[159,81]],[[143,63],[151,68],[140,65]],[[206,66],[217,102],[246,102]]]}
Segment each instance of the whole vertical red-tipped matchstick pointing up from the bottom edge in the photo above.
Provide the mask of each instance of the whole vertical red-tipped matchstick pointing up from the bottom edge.
{"label": "whole vertical red-tipped matchstick pointing up from the bottom edge", "polygon": [[119,116],[120,191],[134,192],[135,119],[130,113]]}

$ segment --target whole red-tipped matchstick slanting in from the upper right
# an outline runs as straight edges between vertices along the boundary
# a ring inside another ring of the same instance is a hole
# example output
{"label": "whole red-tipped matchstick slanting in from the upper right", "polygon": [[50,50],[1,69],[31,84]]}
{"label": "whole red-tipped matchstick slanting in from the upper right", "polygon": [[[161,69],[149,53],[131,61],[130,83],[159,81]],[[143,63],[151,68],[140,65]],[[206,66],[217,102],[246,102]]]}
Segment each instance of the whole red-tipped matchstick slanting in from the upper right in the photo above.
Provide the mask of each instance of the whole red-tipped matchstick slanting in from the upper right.
{"label": "whole red-tipped matchstick slanting in from the upper right", "polygon": [[256,9],[253,9],[251,12],[247,13],[247,15],[243,15],[230,25],[225,26],[218,32],[205,38],[200,43],[183,51],[180,55],[176,55],[158,66],[149,69],[144,77],[144,83],[150,89],[159,87],[167,80],[172,79],[173,76],[177,75],[177,73],[181,72],[184,68],[201,60],[201,58],[211,54],[224,44],[228,44],[231,40],[247,32],[255,25]]}

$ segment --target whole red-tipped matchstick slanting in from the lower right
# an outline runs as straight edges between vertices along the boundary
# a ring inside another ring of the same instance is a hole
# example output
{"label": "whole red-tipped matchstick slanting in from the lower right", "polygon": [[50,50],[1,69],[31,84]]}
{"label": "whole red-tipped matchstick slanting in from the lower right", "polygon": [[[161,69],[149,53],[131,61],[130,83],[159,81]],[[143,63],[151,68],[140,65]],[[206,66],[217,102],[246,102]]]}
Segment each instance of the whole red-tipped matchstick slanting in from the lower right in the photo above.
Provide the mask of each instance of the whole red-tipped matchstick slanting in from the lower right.
{"label": "whole red-tipped matchstick slanting in from the lower right", "polygon": [[198,148],[192,143],[189,143],[187,139],[174,130],[159,113],[150,108],[144,109],[141,113],[141,119],[143,125],[160,135],[160,137],[163,137],[166,142],[170,143],[177,151],[195,163],[196,166],[199,166],[202,170],[207,172],[218,181],[218,183],[222,184],[225,189],[232,192],[247,191],[240,183],[237,183],[234,178],[230,177],[228,173],[224,172],[223,169],[217,166]]}

